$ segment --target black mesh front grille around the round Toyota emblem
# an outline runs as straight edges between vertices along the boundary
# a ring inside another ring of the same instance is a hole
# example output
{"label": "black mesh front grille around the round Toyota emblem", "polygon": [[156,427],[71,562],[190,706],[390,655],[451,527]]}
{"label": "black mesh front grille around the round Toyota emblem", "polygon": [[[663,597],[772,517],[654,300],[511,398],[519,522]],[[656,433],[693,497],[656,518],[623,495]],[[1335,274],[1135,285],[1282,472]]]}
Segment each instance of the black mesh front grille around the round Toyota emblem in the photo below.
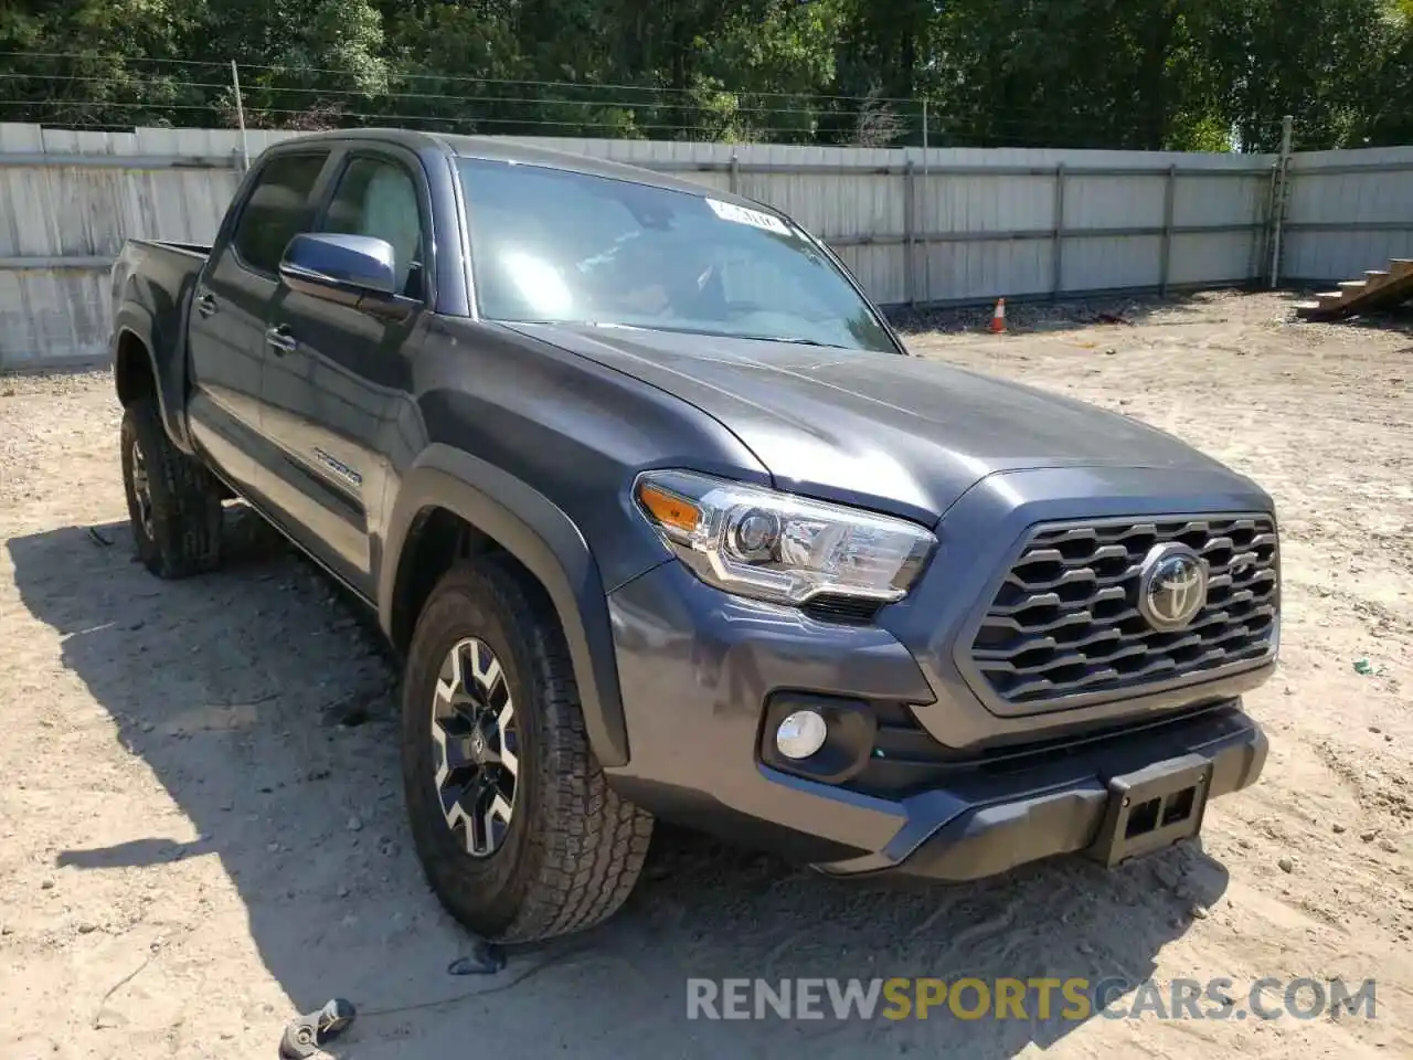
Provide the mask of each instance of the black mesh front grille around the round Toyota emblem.
{"label": "black mesh front grille around the round Toyota emblem", "polygon": [[[1210,575],[1205,605],[1176,632],[1137,608],[1143,560],[1169,541],[1195,550]],[[971,661],[1007,704],[1128,694],[1266,657],[1276,608],[1270,516],[1043,526],[996,591]]]}

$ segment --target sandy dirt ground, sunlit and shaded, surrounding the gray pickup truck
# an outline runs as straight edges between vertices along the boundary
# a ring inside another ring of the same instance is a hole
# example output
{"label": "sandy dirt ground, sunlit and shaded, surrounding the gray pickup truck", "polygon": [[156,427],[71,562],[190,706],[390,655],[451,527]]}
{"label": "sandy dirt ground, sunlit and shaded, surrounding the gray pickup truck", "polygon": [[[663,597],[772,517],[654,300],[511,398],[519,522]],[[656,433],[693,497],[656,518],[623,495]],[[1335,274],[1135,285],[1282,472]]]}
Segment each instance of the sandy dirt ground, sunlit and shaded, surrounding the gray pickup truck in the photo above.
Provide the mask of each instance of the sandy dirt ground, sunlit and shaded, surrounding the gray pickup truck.
{"label": "sandy dirt ground, sunlit and shaded, surrounding the gray pickup truck", "polygon": [[[0,379],[0,1056],[274,1056],[333,995],[339,1056],[1413,1056],[1413,328],[1286,295],[951,314],[928,356],[1171,430],[1283,527],[1272,755],[1204,841],[1106,873],[836,883],[681,832],[609,924],[447,974],[396,779],[394,674],[249,522],[220,574],[130,561],[105,373]],[[1091,319],[1092,319],[1092,310]],[[1075,319],[1075,318],[1080,319]],[[1368,660],[1368,666],[1361,663]],[[1356,663],[1359,666],[1356,667]],[[1368,670],[1368,673],[1361,673]],[[688,977],[1378,979],[1376,1018],[688,1022]]]}

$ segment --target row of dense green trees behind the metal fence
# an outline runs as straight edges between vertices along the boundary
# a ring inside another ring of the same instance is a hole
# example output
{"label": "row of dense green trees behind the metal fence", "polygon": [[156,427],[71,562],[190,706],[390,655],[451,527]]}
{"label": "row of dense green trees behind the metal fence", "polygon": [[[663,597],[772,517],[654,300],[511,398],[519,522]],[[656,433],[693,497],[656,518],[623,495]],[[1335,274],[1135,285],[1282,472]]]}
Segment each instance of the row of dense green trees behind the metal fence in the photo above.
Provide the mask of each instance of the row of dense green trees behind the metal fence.
{"label": "row of dense green trees behind the metal fence", "polygon": [[0,117],[1272,150],[1413,139],[1413,0],[4,0]]}

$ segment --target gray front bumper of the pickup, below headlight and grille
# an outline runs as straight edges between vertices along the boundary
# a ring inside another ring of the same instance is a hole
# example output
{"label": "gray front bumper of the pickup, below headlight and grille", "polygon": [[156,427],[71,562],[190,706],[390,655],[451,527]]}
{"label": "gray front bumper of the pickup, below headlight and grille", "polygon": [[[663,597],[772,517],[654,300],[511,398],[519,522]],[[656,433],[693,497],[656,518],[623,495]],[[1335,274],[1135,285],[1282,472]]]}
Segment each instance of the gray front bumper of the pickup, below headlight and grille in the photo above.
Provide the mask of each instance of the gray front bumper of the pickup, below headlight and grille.
{"label": "gray front bumper of the pickup, below headlight and grille", "polygon": [[1198,756],[1211,766],[1211,799],[1253,783],[1266,758],[1236,697],[1269,670],[1202,685],[1184,709],[1136,714],[1118,729],[1053,717],[1023,743],[1002,719],[1002,739],[965,748],[920,726],[880,726],[880,745],[926,745],[927,760],[890,752],[849,782],[822,783],[763,763],[773,694],[848,697],[880,717],[951,708],[890,632],[731,596],[677,563],[617,589],[609,612],[630,753],[606,770],[613,787],[657,815],[835,875],[974,879],[1082,851],[1101,831],[1112,777]]}

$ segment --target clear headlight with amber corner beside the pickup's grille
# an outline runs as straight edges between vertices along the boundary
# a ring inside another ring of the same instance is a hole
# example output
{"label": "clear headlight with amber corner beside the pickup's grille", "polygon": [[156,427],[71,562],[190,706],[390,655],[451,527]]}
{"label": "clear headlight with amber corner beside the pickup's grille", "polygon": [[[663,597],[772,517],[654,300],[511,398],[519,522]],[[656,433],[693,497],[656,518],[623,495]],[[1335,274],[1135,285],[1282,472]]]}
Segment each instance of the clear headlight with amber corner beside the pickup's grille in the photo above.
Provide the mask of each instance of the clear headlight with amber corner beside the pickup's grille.
{"label": "clear headlight with amber corner beside the pickup's grille", "polygon": [[643,472],[633,496],[702,581],[779,603],[901,599],[937,544],[903,519],[685,471]]}

